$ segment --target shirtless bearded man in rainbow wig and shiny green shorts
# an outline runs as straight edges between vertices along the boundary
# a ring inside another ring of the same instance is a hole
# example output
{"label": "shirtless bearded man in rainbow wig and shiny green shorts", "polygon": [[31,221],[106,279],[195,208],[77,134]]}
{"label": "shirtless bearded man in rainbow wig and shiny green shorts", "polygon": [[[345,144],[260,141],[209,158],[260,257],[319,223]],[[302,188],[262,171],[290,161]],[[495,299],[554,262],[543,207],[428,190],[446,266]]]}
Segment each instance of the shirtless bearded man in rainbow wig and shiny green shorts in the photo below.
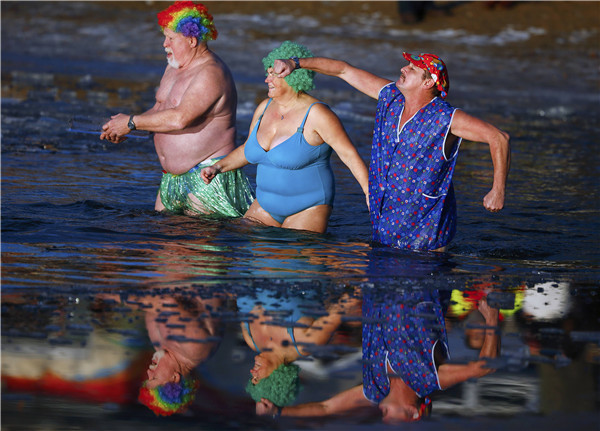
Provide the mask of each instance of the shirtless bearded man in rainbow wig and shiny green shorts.
{"label": "shirtless bearded man in rainbow wig and shiny green shorts", "polygon": [[217,38],[206,7],[178,1],[158,13],[167,67],[156,103],[142,114],[117,114],[100,139],[123,142],[132,130],[154,134],[163,176],[155,209],[183,214],[240,217],[253,201],[250,183],[239,170],[207,185],[202,168],[235,148],[237,92],[227,65],[208,47]]}

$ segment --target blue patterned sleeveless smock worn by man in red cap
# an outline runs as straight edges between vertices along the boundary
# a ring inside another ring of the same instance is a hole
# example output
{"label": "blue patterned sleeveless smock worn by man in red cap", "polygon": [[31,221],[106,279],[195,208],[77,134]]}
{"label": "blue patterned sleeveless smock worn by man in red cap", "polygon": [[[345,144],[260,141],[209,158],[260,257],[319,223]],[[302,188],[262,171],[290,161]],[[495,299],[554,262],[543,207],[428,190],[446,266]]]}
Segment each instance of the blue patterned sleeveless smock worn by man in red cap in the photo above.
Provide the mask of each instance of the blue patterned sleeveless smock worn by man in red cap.
{"label": "blue patterned sleeveless smock worn by man in red cap", "polygon": [[444,145],[455,109],[434,98],[402,129],[404,96],[395,83],[379,93],[369,200],[373,241],[415,250],[435,250],[456,232],[452,174],[460,141],[449,158]]}

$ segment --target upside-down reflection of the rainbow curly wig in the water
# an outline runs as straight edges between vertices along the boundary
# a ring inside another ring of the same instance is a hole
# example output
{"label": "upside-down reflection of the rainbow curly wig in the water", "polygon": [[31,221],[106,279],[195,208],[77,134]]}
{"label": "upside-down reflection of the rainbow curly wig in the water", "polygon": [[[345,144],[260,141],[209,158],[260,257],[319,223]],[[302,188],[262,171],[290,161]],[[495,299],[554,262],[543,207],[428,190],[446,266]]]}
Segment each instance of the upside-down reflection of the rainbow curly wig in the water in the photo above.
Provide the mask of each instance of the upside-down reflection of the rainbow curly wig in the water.
{"label": "upside-down reflection of the rainbow curly wig in the water", "polygon": [[169,382],[154,389],[148,389],[144,384],[138,400],[157,416],[170,416],[187,409],[196,398],[198,386],[198,380],[193,377],[182,377],[179,383]]}

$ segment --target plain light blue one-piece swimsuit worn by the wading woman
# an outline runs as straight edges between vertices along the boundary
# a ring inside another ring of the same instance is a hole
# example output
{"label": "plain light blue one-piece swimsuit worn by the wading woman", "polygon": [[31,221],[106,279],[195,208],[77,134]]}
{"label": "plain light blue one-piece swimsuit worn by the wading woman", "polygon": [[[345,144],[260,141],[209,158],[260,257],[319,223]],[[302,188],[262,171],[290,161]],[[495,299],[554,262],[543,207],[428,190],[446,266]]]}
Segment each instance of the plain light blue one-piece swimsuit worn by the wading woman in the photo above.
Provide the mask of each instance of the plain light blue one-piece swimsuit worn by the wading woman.
{"label": "plain light blue one-piece swimsuit worn by the wading woman", "polygon": [[327,143],[310,145],[303,134],[304,123],[313,105],[309,106],[296,133],[269,151],[265,151],[256,138],[265,114],[263,111],[244,148],[246,160],[258,165],[256,199],[279,223],[307,208],[333,205],[335,183],[330,164],[332,149]]}

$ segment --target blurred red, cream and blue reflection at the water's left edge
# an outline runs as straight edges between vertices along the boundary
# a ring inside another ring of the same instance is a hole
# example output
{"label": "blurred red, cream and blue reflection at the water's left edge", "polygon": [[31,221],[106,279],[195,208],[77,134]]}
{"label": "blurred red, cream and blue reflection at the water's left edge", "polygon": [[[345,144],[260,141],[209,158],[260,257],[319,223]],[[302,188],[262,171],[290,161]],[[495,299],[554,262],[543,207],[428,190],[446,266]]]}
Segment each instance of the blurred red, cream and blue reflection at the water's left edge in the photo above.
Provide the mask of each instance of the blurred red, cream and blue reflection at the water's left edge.
{"label": "blurred red, cream and blue reflection at the water's left edge", "polygon": [[135,402],[149,358],[143,323],[106,313],[86,296],[2,295],[3,393]]}

